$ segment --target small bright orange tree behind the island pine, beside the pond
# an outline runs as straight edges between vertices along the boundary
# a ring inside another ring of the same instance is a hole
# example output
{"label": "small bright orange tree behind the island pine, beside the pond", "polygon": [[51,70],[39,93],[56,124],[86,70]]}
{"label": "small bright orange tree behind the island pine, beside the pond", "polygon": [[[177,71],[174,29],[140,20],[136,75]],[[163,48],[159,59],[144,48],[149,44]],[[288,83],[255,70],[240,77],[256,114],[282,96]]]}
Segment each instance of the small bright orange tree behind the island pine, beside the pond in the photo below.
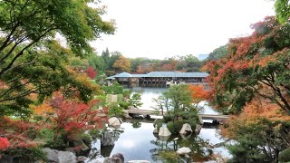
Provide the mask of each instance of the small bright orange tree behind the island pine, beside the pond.
{"label": "small bright orange tree behind the island pine, beside the pond", "polygon": [[203,85],[189,84],[189,91],[191,91],[191,98],[194,101],[194,103],[199,103],[200,101],[208,100],[209,91],[206,91]]}

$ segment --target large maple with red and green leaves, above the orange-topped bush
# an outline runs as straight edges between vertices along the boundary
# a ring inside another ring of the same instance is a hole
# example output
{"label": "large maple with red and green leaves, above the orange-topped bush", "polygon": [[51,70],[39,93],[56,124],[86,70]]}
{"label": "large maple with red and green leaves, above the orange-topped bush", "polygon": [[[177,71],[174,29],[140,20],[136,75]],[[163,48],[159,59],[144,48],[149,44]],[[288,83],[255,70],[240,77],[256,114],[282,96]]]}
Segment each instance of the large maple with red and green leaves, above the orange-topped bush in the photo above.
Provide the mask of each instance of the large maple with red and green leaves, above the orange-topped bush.
{"label": "large maple with red and green leaves, above the orange-topped bush", "polygon": [[225,57],[204,67],[210,72],[210,99],[221,111],[238,113],[259,96],[289,112],[290,25],[269,16],[252,28],[253,34],[230,40]]}

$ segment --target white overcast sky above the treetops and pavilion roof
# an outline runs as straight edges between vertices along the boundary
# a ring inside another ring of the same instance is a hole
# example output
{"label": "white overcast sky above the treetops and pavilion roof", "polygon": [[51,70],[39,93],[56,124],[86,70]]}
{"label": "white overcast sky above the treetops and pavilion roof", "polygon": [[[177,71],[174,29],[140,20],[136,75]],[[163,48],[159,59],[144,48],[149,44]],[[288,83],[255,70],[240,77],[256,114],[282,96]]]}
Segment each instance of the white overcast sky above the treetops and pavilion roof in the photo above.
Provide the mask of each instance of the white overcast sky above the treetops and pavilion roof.
{"label": "white overcast sky above the treetops and pavilion roof", "polygon": [[163,59],[210,53],[229,38],[251,34],[250,24],[274,15],[269,0],[102,0],[117,32],[92,43],[130,58]]}

